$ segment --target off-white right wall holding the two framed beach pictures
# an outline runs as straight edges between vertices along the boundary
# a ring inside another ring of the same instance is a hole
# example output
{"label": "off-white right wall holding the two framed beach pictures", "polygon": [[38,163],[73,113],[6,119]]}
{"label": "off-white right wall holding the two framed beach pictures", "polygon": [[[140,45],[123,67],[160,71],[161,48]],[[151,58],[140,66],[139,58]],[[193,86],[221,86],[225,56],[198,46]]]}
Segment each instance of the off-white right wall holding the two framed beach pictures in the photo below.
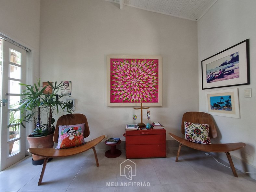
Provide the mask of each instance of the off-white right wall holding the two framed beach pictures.
{"label": "off-white right wall holding the two framed beach pictures", "polygon": [[[238,88],[241,118],[213,116],[218,128],[219,139],[222,143],[244,142],[246,147],[231,152],[241,159],[241,152],[252,155],[256,166],[256,139],[255,139],[255,113],[256,113],[256,1],[240,0],[217,1],[211,9],[198,21],[198,70],[201,71],[201,60],[208,58],[228,47],[245,39],[250,39],[250,85],[226,87],[218,89],[201,90],[201,74],[199,72],[199,110],[206,111],[205,93],[213,90]],[[252,89],[252,97],[245,98],[245,88]],[[225,158],[226,159],[226,158]]]}

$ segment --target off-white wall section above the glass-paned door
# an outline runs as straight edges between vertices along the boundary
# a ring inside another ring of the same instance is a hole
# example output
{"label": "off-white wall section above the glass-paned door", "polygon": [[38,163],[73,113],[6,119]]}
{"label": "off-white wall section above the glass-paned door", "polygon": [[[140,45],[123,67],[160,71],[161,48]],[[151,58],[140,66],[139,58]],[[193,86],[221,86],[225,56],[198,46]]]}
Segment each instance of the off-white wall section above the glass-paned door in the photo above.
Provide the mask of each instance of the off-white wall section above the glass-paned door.
{"label": "off-white wall section above the glass-paned door", "polygon": [[28,68],[38,76],[40,0],[0,0],[0,18],[0,32],[32,49]]}

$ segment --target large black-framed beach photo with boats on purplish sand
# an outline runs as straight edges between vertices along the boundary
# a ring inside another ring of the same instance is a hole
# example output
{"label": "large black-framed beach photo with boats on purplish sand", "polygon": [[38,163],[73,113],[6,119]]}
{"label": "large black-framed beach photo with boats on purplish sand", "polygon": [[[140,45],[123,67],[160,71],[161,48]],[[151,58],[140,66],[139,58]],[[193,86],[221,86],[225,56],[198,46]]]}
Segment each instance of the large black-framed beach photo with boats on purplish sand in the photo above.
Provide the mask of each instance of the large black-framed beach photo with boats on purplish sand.
{"label": "large black-framed beach photo with boats on purplish sand", "polygon": [[250,84],[249,60],[249,39],[202,60],[202,89]]}

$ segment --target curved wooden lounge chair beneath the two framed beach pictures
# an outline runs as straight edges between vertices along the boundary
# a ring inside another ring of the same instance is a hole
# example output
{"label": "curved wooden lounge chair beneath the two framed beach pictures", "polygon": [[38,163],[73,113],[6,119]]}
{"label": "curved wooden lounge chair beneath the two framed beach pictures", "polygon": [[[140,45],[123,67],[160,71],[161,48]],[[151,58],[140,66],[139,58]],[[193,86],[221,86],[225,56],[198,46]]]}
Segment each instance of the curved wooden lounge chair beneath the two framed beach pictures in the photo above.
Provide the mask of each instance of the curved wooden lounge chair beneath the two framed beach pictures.
{"label": "curved wooden lounge chair beneath the two framed beach pictures", "polygon": [[[184,122],[192,122],[192,123],[200,123],[200,124],[208,124],[210,125],[210,130],[209,130],[209,136],[210,138],[216,138],[217,137],[217,130],[215,127],[215,123],[213,121],[213,118],[210,114],[204,113],[204,112],[186,112],[184,113],[182,117],[182,123],[181,123],[181,133],[185,134],[185,127],[184,127]],[[201,151],[206,151],[206,152],[224,152],[227,155],[227,159],[229,161],[230,167],[232,169],[232,172],[235,177],[237,176],[236,169],[234,167],[233,161],[231,159],[229,151],[235,151],[237,149],[240,149],[242,147],[245,147],[245,143],[218,143],[218,144],[199,144],[199,143],[194,143],[191,141],[187,141],[184,138],[181,138],[177,135],[174,135],[172,133],[169,133],[173,139],[178,141],[180,143],[177,156],[176,156],[176,162],[178,162],[179,154],[180,154],[180,149],[182,145],[185,145],[187,147],[191,147],[193,149],[201,150]]]}

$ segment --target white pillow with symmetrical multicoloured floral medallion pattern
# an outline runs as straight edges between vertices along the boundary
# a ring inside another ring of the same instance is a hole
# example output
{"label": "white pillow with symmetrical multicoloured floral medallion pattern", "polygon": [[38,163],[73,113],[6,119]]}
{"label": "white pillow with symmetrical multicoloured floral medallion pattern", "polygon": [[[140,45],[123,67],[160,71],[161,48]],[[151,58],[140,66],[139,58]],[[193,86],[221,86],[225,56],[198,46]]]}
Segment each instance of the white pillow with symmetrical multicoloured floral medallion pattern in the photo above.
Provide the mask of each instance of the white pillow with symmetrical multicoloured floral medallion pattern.
{"label": "white pillow with symmetrical multicoloured floral medallion pattern", "polygon": [[185,139],[195,143],[211,144],[209,128],[207,124],[184,122]]}

